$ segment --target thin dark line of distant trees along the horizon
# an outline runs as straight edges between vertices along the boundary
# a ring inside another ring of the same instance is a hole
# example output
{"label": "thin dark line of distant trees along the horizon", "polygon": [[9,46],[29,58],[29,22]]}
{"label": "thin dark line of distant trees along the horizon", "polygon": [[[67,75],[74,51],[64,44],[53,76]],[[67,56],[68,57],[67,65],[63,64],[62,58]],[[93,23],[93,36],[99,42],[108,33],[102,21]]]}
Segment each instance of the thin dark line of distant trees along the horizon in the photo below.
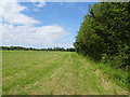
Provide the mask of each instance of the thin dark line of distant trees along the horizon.
{"label": "thin dark line of distant trees along the horizon", "polygon": [[64,48],[64,47],[48,47],[48,48],[34,48],[34,47],[23,47],[23,46],[0,46],[3,51],[62,51],[62,52],[75,52],[75,48]]}

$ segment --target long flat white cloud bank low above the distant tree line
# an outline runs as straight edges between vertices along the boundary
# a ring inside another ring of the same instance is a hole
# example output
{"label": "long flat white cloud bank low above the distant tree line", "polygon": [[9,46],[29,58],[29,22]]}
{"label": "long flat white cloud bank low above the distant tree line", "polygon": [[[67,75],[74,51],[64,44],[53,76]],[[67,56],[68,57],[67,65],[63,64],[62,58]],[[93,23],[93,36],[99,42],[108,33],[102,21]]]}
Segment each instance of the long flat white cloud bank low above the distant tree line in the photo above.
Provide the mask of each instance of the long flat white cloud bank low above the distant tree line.
{"label": "long flat white cloud bank low above the distant tree line", "polygon": [[64,40],[64,37],[69,36],[67,29],[61,26],[13,26],[4,24],[3,29],[3,45],[34,45],[37,47],[54,47],[54,46],[72,46]]}

